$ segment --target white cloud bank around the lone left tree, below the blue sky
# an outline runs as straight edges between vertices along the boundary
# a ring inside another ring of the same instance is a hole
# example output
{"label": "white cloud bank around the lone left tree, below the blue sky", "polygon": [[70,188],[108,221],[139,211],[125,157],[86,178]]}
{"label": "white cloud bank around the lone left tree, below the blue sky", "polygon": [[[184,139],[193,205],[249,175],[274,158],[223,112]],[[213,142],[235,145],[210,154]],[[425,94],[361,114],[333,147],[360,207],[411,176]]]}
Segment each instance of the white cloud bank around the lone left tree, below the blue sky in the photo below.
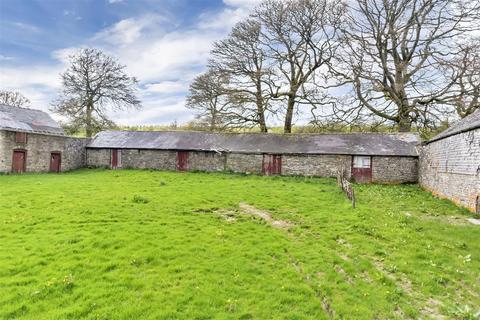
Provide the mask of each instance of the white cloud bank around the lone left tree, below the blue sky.
{"label": "white cloud bank around the lone left tree, below the blue sky", "polygon": [[[19,90],[35,108],[48,110],[61,82],[68,57],[81,47],[97,47],[118,57],[127,73],[140,81],[143,109],[111,114],[120,124],[184,123],[193,119],[185,105],[190,81],[205,68],[212,43],[248,15],[248,1],[225,1],[229,7],[203,14],[196,24],[181,29],[160,15],[123,19],[100,30],[76,47],[52,52],[56,64],[10,68],[0,66],[0,87]],[[242,4],[243,3],[243,4]],[[249,2],[251,3],[251,1]]]}

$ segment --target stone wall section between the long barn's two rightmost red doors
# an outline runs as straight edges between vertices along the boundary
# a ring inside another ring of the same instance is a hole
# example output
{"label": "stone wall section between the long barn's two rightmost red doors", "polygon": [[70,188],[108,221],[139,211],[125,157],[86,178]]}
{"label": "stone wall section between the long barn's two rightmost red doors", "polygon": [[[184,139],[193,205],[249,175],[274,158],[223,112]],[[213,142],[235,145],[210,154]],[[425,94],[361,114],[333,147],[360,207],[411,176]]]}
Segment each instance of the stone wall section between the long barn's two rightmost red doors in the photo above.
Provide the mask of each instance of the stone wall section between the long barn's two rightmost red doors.
{"label": "stone wall section between the long barn's two rightmost red doors", "polygon": [[284,155],[282,174],[317,177],[336,177],[339,168],[350,176],[352,156],[348,155]]}

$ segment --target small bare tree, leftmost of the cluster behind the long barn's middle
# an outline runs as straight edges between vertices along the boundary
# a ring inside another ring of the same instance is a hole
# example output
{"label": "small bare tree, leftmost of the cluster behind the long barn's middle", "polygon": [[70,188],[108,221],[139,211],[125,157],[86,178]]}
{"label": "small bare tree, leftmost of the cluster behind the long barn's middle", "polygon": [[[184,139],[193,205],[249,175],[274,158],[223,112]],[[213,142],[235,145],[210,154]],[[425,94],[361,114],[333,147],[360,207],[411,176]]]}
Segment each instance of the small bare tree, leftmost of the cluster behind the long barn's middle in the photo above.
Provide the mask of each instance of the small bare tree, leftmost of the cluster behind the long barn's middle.
{"label": "small bare tree, leftmost of the cluster behind the long barn's middle", "polygon": [[211,69],[190,84],[186,106],[197,112],[197,121],[207,123],[209,131],[221,131],[228,125],[226,114],[231,103],[227,85],[228,77]]}

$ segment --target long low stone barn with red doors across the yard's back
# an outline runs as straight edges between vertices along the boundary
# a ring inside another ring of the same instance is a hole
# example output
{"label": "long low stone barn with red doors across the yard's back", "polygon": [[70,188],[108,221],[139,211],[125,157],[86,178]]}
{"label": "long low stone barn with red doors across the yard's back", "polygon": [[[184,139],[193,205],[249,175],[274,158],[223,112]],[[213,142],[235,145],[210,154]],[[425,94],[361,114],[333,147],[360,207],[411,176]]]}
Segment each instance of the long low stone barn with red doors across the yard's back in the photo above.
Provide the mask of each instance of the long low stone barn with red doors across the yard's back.
{"label": "long low stone barn with red doors across the yard's back", "polygon": [[238,134],[104,131],[87,146],[91,167],[336,176],[358,182],[417,182],[414,134]]}

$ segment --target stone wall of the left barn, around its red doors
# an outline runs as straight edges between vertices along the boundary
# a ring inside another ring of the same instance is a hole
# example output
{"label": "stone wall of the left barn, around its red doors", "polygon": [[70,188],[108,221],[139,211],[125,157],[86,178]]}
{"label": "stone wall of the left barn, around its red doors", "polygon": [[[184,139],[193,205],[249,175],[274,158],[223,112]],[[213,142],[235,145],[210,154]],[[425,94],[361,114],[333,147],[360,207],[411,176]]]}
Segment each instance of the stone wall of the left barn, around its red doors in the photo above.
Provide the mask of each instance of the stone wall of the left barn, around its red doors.
{"label": "stone wall of the left barn, around its red doors", "polygon": [[27,143],[16,143],[15,132],[0,131],[0,172],[11,171],[14,149],[26,150],[27,172],[48,172],[51,152],[61,153],[61,171],[78,169],[85,166],[87,143],[82,138],[36,133],[27,134]]}

